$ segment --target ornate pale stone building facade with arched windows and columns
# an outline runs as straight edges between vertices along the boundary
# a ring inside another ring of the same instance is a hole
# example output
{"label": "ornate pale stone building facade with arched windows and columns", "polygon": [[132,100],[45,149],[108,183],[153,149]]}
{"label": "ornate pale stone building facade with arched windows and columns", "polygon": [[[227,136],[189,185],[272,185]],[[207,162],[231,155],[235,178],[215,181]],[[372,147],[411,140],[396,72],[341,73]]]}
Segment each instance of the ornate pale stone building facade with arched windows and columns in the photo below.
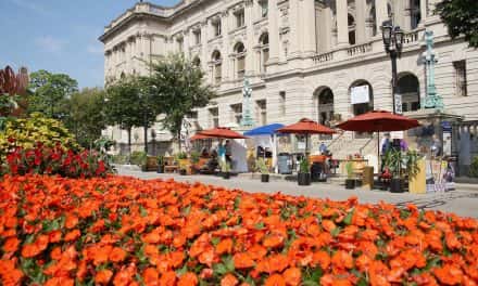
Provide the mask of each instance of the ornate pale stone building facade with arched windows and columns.
{"label": "ornate pale stone building facade with arched windows and columns", "polygon": [[[436,2],[184,0],[172,8],[139,2],[100,37],[105,81],[146,74],[144,62],[184,52],[203,68],[219,95],[215,105],[191,115],[196,127],[240,123],[244,77],[253,90],[257,126],[302,117],[329,125],[370,109],[392,109],[391,64],[380,29],[392,20],[405,31],[397,90],[403,110],[422,108],[427,86],[424,32],[432,30],[439,55],[437,91],[446,112],[467,122],[461,130],[471,136],[470,152],[478,152],[478,51],[449,38],[433,15]],[[367,102],[352,104],[356,87],[367,87]]]}

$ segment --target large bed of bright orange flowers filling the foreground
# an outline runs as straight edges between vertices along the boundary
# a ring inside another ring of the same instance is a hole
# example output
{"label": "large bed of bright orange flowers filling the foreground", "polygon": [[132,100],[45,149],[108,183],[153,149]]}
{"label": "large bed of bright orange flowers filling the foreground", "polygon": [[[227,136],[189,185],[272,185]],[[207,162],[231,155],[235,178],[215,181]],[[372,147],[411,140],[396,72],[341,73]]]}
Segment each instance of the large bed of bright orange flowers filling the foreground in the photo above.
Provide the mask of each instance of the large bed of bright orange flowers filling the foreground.
{"label": "large bed of bright orange flowers filling the foreground", "polygon": [[133,178],[0,181],[2,285],[476,285],[478,222]]}

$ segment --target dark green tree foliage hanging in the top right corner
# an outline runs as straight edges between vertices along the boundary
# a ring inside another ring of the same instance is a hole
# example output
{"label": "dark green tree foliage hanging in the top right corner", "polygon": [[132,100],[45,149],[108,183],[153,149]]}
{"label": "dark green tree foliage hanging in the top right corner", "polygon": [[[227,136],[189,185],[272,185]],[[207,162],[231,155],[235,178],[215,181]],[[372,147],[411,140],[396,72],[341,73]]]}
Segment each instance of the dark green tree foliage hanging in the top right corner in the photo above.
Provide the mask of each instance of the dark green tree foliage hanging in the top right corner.
{"label": "dark green tree foliage hanging in the top right corner", "polygon": [[435,12],[446,25],[452,39],[464,35],[469,47],[478,48],[477,0],[442,0]]}

